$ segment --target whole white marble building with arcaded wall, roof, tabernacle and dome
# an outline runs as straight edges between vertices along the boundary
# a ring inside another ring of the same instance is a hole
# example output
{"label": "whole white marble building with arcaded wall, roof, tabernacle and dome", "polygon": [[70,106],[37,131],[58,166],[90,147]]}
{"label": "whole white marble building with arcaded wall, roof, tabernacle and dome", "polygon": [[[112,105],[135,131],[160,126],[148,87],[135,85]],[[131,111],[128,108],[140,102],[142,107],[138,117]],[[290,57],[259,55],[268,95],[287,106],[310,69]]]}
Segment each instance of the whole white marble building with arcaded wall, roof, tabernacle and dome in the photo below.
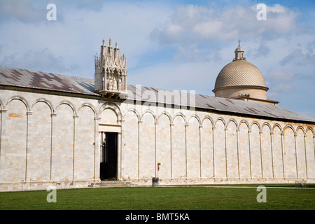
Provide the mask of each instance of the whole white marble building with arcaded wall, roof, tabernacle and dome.
{"label": "whole white marble building with arcaded wall, roof, tabernacle and dome", "polygon": [[94,80],[0,66],[0,190],[314,183],[315,119],[266,99],[240,46],[234,62],[216,97],[127,85],[125,55],[104,41]]}

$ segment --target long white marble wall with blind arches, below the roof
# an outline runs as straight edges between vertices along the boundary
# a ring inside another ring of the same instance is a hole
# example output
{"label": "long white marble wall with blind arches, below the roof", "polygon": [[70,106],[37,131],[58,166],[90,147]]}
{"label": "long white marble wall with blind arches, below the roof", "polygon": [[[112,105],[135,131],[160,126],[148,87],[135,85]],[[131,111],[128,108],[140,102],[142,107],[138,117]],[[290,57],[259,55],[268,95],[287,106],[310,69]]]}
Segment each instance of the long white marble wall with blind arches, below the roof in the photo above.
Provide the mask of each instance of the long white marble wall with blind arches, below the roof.
{"label": "long white marble wall with blind arches, below the roof", "polygon": [[101,131],[118,132],[121,181],[315,181],[314,125],[73,94],[0,92],[1,191],[99,182]]}

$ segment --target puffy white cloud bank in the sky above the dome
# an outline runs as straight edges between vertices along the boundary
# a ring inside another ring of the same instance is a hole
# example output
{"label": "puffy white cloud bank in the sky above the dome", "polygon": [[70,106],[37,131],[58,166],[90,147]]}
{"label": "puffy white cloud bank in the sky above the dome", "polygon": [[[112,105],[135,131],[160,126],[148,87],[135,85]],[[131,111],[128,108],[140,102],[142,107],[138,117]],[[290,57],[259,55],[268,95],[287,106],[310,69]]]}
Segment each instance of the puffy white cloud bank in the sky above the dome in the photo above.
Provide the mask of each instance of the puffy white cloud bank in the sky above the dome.
{"label": "puffy white cloud bank in the sky above the dome", "polygon": [[165,43],[170,40],[172,32],[169,27],[176,27],[183,34],[178,42],[190,38],[190,41],[211,38],[232,40],[237,35],[251,38],[258,34],[269,36],[271,32],[284,34],[295,29],[297,13],[278,4],[267,7],[267,20],[258,21],[255,7],[237,6],[214,10],[201,6],[180,6],[176,9],[164,27],[155,29],[158,41]]}

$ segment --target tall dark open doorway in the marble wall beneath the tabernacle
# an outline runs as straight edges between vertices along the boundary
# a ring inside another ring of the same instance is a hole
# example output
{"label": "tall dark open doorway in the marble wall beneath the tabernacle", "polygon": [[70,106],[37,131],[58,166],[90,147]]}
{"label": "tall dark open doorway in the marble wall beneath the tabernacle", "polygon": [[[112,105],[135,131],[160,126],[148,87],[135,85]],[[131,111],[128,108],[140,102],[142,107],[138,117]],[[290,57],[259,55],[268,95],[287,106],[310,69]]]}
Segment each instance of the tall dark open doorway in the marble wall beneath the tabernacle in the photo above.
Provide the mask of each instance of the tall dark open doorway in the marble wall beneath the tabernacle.
{"label": "tall dark open doorway in the marble wall beneath the tabernacle", "polygon": [[101,180],[114,181],[117,179],[117,148],[118,133],[101,132]]}

